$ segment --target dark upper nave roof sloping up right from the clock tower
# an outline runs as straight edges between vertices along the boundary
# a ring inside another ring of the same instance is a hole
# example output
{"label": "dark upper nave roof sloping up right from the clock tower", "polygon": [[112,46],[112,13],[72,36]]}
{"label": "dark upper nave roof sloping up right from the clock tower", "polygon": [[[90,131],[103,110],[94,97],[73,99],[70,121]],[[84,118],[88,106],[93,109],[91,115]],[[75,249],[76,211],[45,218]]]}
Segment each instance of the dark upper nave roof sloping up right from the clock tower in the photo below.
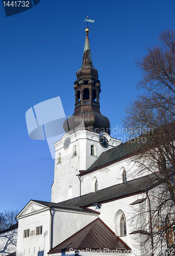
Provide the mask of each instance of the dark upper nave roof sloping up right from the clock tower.
{"label": "dark upper nave roof sloping up right from the clock tower", "polygon": [[[146,143],[143,143],[146,138]],[[148,149],[153,145],[153,140],[150,135],[141,135],[136,139],[121,143],[118,146],[111,148],[103,152],[96,161],[87,169],[81,173],[80,176],[94,172],[94,170],[106,167],[123,159],[127,159],[135,154],[139,154],[141,151]]]}

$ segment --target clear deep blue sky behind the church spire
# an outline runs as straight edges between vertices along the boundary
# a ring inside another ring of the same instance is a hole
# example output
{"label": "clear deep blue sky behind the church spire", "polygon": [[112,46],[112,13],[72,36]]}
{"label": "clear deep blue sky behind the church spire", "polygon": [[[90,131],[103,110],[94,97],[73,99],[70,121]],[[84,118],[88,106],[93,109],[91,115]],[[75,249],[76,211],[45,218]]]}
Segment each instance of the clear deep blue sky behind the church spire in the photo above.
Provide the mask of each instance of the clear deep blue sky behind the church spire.
{"label": "clear deep blue sky behind the church spire", "polygon": [[124,104],[138,94],[135,60],[158,43],[160,31],[174,29],[174,8],[175,0],[41,0],[6,17],[1,4],[0,212],[20,211],[31,199],[51,201],[54,160],[46,141],[30,139],[25,115],[57,96],[72,115],[87,15],[95,20],[89,41],[101,80],[101,113],[113,129],[122,125]]}

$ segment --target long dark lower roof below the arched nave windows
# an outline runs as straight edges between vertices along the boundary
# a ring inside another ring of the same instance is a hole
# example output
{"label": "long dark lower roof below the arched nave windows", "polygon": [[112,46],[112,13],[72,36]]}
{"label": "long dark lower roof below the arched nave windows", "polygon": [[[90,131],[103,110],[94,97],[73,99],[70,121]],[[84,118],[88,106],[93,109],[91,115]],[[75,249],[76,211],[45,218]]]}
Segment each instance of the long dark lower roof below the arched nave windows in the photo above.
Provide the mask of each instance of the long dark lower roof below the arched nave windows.
{"label": "long dark lower roof below the arched nave windows", "polygon": [[94,203],[106,203],[109,201],[130,197],[132,195],[141,194],[144,193],[145,189],[152,188],[160,183],[158,176],[159,173],[146,175],[125,183],[120,183],[93,193],[86,194],[81,197],[66,200],[61,202],[61,204],[88,207],[92,206]]}

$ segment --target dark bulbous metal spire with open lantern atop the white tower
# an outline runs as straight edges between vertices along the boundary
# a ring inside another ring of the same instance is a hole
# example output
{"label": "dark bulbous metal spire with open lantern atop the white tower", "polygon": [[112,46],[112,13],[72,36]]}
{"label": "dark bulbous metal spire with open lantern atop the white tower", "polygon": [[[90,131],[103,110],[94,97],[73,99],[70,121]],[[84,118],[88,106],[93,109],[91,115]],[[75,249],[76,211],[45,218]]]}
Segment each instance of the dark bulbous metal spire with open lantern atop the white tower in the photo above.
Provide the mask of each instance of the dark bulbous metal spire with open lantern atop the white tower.
{"label": "dark bulbous metal spire with open lantern atop the white tower", "polygon": [[99,111],[99,93],[101,84],[98,80],[98,71],[92,66],[89,46],[89,29],[86,28],[86,40],[83,52],[82,67],[77,71],[77,80],[74,82],[75,109],[71,117],[63,124],[65,132],[76,129],[84,121],[86,130],[110,134],[109,119]]}

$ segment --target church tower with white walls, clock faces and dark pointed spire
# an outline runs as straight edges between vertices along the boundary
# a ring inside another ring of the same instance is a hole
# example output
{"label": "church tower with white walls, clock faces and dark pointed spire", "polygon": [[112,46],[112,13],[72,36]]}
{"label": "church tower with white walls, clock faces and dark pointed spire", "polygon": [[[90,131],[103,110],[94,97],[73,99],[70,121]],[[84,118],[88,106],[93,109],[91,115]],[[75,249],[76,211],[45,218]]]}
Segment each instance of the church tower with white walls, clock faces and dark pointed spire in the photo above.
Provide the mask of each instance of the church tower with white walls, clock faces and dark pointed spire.
{"label": "church tower with white walls, clock faces and dark pointed spire", "polygon": [[74,113],[63,124],[66,134],[54,143],[52,202],[55,203],[83,195],[78,175],[85,172],[104,151],[121,143],[110,137],[109,119],[99,111],[101,83],[97,70],[92,66],[89,29],[85,32],[82,66],[76,73],[77,80],[73,87]]}

